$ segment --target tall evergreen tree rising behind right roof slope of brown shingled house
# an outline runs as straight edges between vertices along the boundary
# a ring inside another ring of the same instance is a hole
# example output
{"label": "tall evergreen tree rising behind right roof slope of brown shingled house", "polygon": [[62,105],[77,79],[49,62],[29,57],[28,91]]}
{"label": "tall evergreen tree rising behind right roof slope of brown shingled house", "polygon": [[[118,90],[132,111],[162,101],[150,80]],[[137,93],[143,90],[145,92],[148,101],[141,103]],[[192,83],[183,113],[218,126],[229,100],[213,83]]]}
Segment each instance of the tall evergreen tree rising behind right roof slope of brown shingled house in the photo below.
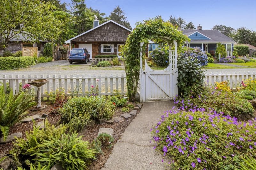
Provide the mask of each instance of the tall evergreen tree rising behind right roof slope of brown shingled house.
{"label": "tall evergreen tree rising behind right roof slope of brown shingled house", "polygon": [[132,29],[130,22],[126,20],[126,14],[124,13],[124,11],[122,10],[122,8],[120,6],[117,6],[109,15],[109,18],[115,22],[117,22],[118,24],[129,28],[130,30]]}

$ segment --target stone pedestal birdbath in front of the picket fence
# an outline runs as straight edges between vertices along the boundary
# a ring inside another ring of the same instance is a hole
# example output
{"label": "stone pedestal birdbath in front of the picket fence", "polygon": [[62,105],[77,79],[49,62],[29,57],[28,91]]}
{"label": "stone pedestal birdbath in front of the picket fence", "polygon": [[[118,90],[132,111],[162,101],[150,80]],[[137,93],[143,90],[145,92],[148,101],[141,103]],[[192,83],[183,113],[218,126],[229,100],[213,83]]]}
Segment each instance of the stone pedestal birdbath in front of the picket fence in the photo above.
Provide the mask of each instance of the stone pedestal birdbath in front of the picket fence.
{"label": "stone pedestal birdbath in front of the picket fence", "polygon": [[34,85],[37,87],[37,100],[36,100],[36,106],[32,107],[32,111],[42,110],[47,107],[47,105],[41,105],[41,86],[47,83],[49,80],[47,79],[37,79],[32,80],[31,82],[28,82],[29,85]]}

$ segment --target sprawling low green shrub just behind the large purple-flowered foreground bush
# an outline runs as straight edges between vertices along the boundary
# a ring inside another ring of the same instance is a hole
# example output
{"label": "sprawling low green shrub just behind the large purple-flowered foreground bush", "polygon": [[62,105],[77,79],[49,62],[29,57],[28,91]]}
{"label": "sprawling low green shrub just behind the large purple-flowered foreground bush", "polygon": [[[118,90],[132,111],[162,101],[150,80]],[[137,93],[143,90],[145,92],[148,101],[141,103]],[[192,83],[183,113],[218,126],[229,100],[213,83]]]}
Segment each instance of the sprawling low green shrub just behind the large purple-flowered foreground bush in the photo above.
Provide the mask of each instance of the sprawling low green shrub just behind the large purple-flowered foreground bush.
{"label": "sprawling low green shrub just behind the large purple-flowered foreground bush", "polygon": [[254,108],[248,100],[241,99],[231,92],[220,92],[218,89],[206,88],[199,95],[188,96],[184,100],[176,100],[177,106],[186,109],[213,108],[225,115],[240,117],[253,115]]}

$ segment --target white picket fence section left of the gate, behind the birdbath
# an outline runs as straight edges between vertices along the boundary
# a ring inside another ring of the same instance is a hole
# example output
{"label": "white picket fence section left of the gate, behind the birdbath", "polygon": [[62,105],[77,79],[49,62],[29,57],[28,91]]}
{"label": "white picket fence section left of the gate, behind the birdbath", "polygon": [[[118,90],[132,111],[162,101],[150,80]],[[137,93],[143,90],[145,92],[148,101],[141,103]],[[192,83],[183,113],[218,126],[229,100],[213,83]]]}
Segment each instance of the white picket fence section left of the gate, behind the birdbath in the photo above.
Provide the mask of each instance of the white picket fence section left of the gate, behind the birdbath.
{"label": "white picket fence section left of the gate, behind the birdbath", "polygon": [[[57,89],[64,90],[67,94],[77,93],[79,96],[84,96],[89,94],[91,91],[91,85],[96,86],[98,84],[99,88],[99,95],[114,95],[114,92],[116,90],[121,95],[126,94],[126,78],[124,75],[121,76],[92,76],[92,77],[86,77],[85,75],[82,75],[79,77],[79,75],[64,75],[62,77],[59,75],[58,77],[56,75],[53,75],[50,77],[47,75],[44,77],[43,75],[37,76],[35,75],[32,77],[31,75],[28,75],[28,77],[25,77],[25,75],[22,75],[19,77],[16,75],[13,77],[12,75],[9,75],[6,77],[5,75],[3,78],[0,78],[0,85],[3,84],[4,86],[4,92],[6,92],[6,87],[9,86],[13,90],[13,94],[18,94],[20,92],[20,86],[24,85],[28,82],[31,82],[31,80],[35,79],[49,79],[49,82],[47,82],[45,85],[41,86],[41,97],[49,97],[50,93],[55,93]],[[35,89],[35,92],[37,91],[37,87],[31,86],[31,88]],[[35,95],[36,97],[36,95]]]}

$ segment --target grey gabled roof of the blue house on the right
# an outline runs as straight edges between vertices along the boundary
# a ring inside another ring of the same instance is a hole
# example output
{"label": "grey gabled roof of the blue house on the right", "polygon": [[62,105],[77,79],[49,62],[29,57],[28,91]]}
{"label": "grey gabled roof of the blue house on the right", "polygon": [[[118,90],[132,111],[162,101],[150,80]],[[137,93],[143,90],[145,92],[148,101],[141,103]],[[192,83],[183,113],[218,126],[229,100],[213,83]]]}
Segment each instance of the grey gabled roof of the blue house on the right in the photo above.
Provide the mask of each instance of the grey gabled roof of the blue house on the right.
{"label": "grey gabled roof of the blue house on the right", "polygon": [[211,40],[191,40],[190,43],[193,42],[209,42],[209,43],[216,43],[216,42],[230,42],[230,43],[234,43],[234,40],[216,30],[181,30],[183,34],[189,36],[192,35],[193,33],[200,33],[203,34],[205,37],[211,39]]}

